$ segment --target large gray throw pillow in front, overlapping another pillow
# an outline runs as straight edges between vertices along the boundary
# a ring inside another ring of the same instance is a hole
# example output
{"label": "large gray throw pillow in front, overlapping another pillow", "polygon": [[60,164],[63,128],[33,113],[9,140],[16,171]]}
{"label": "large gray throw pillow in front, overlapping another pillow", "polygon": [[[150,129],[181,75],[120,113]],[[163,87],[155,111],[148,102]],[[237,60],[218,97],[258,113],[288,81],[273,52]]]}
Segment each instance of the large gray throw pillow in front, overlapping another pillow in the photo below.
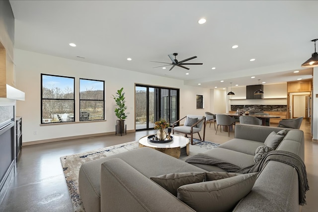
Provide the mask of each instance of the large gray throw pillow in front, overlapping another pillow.
{"label": "large gray throw pillow in front, overlapping another pillow", "polygon": [[231,211],[252,189],[258,173],[240,174],[234,177],[178,188],[178,198],[197,212]]}

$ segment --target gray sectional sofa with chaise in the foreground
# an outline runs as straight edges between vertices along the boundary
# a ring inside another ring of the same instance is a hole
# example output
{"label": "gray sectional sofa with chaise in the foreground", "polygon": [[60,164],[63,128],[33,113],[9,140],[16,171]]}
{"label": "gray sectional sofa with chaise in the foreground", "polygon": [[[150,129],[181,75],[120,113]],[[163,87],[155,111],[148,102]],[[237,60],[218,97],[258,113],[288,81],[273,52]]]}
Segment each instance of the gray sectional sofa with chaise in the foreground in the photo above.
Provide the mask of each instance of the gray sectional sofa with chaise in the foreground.
{"label": "gray sectional sofa with chaise in the foreground", "polygon": [[[255,163],[256,148],[264,145],[266,138],[273,131],[277,133],[283,129],[285,128],[238,124],[235,127],[235,139],[208,150],[204,154],[244,168]],[[287,134],[277,150],[293,152],[304,160],[303,131],[285,130]],[[164,186],[159,186],[157,181],[154,182],[151,179],[170,173],[189,172],[206,174],[206,172],[225,171],[206,164],[189,164],[157,150],[142,147],[82,164],[79,170],[79,193],[86,212],[191,212],[195,211],[189,206],[191,204],[185,204],[164,189]],[[236,177],[222,180],[232,180]],[[238,177],[241,176],[238,175]],[[234,206],[231,205],[231,209],[226,211],[299,212],[298,182],[295,168],[282,162],[269,161],[259,173],[251,189],[247,191],[248,194],[246,193],[245,197],[238,200]],[[200,183],[192,185],[200,185],[202,188],[209,183],[200,181]],[[244,188],[246,190],[247,186]],[[228,193],[225,198],[228,198],[230,204],[234,198],[232,194],[234,196],[242,191],[230,190],[228,192],[231,195]],[[222,194],[217,195],[222,196]],[[222,198],[224,197],[220,197],[217,205],[227,205],[224,199],[221,200]],[[203,209],[201,207],[198,211],[222,211],[214,210],[214,207],[210,207],[210,205],[205,207],[205,204],[201,204],[201,206]]]}

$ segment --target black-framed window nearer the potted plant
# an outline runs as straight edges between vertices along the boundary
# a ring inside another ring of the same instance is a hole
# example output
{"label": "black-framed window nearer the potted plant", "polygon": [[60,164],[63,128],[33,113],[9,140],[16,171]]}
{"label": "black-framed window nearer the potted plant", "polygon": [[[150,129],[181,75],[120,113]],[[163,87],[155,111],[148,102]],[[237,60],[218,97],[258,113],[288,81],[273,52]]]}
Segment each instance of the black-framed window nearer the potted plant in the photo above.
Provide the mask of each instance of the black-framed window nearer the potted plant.
{"label": "black-framed window nearer the potted plant", "polygon": [[104,120],[105,81],[79,79],[79,121]]}

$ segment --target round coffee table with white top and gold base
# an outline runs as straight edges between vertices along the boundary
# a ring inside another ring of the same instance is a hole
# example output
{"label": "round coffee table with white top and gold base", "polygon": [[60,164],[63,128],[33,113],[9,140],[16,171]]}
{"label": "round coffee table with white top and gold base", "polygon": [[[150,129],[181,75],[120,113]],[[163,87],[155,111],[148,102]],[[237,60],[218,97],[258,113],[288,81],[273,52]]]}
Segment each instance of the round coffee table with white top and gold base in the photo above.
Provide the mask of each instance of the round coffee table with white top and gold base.
{"label": "round coffee table with white top and gold base", "polygon": [[[151,136],[151,135],[148,135]],[[151,141],[148,141],[148,136],[145,136],[139,140],[139,147],[151,147],[158,151],[161,151],[165,154],[171,155],[175,158],[180,157],[181,148],[186,147],[187,155],[190,153],[190,147],[189,147],[189,139],[184,136],[179,136],[176,134],[173,134],[173,140],[167,143],[154,143]]]}

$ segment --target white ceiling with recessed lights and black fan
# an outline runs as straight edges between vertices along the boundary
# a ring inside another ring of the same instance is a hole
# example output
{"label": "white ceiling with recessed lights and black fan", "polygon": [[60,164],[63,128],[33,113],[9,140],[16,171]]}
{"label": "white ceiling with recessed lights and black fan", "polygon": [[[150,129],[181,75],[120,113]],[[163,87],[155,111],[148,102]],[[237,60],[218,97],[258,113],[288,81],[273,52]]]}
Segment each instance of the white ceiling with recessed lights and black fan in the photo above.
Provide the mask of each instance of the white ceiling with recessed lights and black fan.
{"label": "white ceiling with recessed lights and black fan", "polygon": [[[317,0],[10,0],[18,49],[213,88],[312,78]],[[205,24],[197,21],[205,17]],[[69,43],[77,44],[70,47]],[[239,48],[232,49],[233,45]],[[170,67],[197,56],[190,70]],[[84,57],[84,59],[77,58]],[[132,61],[127,61],[132,58]],[[254,62],[249,60],[255,58]],[[164,65],[164,64],[162,64]],[[212,70],[212,67],[216,67]],[[299,70],[299,73],[293,71]],[[186,75],[185,73],[189,73]],[[251,76],[255,76],[251,79]],[[220,82],[224,80],[224,82]]]}

